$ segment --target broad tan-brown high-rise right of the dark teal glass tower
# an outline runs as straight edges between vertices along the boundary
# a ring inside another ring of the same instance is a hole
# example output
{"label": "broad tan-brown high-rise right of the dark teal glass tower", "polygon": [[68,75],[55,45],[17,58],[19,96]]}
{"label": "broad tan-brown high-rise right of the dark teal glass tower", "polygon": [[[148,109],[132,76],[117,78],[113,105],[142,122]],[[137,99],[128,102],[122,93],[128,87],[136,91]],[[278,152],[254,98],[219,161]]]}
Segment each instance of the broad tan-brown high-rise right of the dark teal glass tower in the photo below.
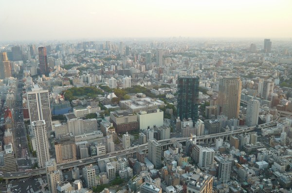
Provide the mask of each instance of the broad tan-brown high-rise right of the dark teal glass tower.
{"label": "broad tan-brown high-rise right of the dark teal glass tower", "polygon": [[241,80],[239,77],[223,77],[219,82],[218,115],[228,119],[238,118],[241,97]]}

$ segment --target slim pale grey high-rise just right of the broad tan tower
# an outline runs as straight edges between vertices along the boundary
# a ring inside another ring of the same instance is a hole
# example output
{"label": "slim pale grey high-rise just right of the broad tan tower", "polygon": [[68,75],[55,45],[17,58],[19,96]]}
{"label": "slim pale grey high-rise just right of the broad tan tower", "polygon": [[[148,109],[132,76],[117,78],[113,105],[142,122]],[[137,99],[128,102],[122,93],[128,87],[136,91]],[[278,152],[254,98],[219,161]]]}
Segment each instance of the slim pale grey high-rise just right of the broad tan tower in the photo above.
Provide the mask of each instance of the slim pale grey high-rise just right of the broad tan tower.
{"label": "slim pale grey high-rise just right of the broad tan tower", "polygon": [[246,109],[246,125],[248,127],[256,126],[258,121],[260,102],[256,99],[250,99]]}

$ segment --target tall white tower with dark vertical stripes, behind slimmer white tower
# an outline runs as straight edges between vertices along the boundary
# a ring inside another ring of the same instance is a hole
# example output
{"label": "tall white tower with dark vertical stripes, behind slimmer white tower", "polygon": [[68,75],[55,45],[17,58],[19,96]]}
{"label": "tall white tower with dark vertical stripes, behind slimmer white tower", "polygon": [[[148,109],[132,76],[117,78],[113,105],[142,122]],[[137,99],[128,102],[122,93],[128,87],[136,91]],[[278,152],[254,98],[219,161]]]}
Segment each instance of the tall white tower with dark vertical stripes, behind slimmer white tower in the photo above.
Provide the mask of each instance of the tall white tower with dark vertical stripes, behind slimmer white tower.
{"label": "tall white tower with dark vertical stripes, behind slimmer white tower", "polygon": [[26,90],[30,122],[44,120],[47,131],[52,130],[49,91],[37,84]]}

